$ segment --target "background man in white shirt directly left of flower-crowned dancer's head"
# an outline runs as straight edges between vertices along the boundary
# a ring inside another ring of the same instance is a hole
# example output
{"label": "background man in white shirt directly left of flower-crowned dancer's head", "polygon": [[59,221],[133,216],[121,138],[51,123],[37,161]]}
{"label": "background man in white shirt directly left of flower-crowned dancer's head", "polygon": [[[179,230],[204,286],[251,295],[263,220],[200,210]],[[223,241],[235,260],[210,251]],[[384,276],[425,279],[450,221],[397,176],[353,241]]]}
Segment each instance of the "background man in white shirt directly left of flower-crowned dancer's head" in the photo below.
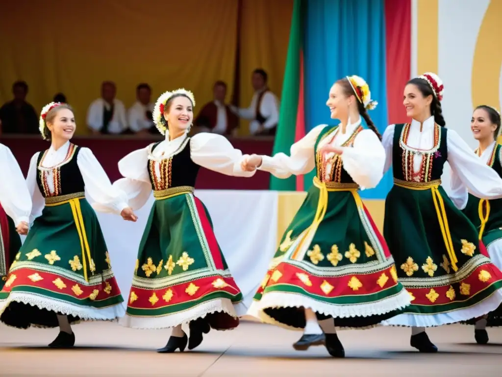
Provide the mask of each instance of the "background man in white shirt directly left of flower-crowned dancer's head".
{"label": "background man in white shirt directly left of flower-crowned dancer's head", "polygon": [[153,122],[154,104],[151,102],[152,88],[149,84],[141,83],[136,87],[136,99],[128,112],[129,129],[140,135],[158,134]]}

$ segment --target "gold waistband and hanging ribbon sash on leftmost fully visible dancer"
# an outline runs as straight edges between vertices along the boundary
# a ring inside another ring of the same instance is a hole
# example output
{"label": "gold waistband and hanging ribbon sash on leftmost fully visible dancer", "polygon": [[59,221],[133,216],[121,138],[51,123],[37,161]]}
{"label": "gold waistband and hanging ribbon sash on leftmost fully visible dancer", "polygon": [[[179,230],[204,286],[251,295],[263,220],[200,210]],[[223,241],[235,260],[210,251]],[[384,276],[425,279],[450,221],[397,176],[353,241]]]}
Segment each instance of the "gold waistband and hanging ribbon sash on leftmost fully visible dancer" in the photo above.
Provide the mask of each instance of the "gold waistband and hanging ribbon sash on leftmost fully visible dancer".
{"label": "gold waistband and hanging ribbon sash on leftmost fully visible dancer", "polygon": [[[94,274],[95,267],[93,266],[93,261],[91,258],[91,252],[89,248],[89,242],[87,241],[87,234],[84,227],[84,219],[82,216],[82,210],[80,208],[80,199],[84,199],[84,193],[75,193],[70,195],[61,195],[57,197],[48,197],[45,199],[46,207],[61,206],[63,204],[69,204],[71,207],[71,213],[73,215],[73,220],[75,221],[75,226],[78,232],[78,238],[80,239],[80,247],[82,249],[82,265],[84,269],[85,281],[89,281],[87,276],[87,263],[89,263],[89,270]],[[87,256],[87,260],[86,260]]]}

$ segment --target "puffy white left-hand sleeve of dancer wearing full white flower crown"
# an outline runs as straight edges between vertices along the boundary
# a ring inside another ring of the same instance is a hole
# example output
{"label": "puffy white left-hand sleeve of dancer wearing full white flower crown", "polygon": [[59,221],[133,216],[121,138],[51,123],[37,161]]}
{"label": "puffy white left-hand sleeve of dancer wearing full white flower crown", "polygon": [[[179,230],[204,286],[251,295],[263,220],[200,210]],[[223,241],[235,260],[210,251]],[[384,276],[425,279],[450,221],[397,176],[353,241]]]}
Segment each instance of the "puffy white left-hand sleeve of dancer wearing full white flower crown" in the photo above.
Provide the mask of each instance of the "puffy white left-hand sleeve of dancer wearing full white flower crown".
{"label": "puffy white left-hand sleeve of dancer wearing full white flower crown", "polygon": [[152,195],[152,183],[148,173],[148,153],[151,145],[135,150],[118,161],[118,171],[122,174],[113,182],[113,187],[126,193],[129,207],[139,210]]}

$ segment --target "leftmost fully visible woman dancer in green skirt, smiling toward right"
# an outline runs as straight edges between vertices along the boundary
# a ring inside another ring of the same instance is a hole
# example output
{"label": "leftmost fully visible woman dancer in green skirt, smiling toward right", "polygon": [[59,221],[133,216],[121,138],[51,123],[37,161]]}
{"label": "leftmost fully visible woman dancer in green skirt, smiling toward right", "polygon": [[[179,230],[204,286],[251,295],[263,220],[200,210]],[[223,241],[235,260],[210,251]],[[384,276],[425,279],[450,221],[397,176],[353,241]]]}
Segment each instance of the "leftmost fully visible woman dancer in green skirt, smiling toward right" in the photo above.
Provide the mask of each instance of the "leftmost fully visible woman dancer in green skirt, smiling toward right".
{"label": "leftmost fully visible woman dancer in green skirt, smiling toward right", "polygon": [[124,312],[84,187],[96,202],[136,219],[92,152],[70,142],[75,127],[70,106],[50,103],[42,110],[40,132],[51,147],[35,153],[30,162],[27,184],[34,222],[9,272],[3,290],[9,296],[0,309],[0,320],[9,326],[59,325],[50,347],[74,345],[70,323],[113,320]]}

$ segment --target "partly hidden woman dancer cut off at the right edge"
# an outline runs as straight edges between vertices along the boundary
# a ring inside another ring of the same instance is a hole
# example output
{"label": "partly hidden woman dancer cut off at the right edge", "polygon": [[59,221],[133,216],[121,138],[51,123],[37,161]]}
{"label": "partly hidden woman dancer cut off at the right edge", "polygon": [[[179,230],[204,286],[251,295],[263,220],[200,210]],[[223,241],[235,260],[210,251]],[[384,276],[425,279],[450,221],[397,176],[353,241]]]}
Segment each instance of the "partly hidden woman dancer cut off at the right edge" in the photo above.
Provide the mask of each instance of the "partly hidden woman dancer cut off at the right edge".
{"label": "partly hidden woman dancer cut off at the right edge", "polygon": [[[495,108],[480,105],[474,109],[471,118],[471,130],[479,143],[474,153],[481,158],[481,162],[491,167],[502,177],[502,160],[500,150],[502,146],[496,142],[500,134],[500,114]],[[467,194],[467,188],[453,176],[452,194],[456,195],[458,208],[464,208],[464,214],[476,226],[479,239],[488,250],[490,259],[498,268],[502,268],[502,199],[478,199],[472,194]],[[452,198],[453,199],[453,198]],[[467,203],[466,203],[467,201]],[[500,326],[502,308],[476,320],[467,321],[474,324],[474,338],[479,344],[488,343],[486,325]]]}

